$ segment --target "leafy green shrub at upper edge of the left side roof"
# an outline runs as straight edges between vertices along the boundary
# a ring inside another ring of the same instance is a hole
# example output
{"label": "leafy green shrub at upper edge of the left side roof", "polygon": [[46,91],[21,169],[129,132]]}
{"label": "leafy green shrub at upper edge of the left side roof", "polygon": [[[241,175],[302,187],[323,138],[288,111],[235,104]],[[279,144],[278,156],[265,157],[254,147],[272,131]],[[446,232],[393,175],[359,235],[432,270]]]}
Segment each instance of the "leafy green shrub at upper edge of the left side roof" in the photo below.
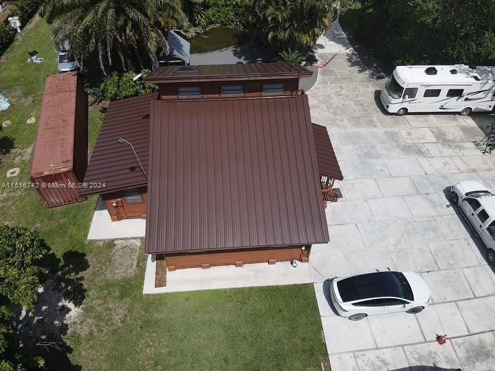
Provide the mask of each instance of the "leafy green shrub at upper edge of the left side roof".
{"label": "leafy green shrub at upper edge of the left side roof", "polygon": [[[144,69],[141,73],[142,76],[146,76],[149,72]],[[107,99],[119,100],[135,97],[136,95],[149,94],[158,90],[156,85],[146,84],[143,81],[133,81],[135,76],[134,72],[125,72],[124,74],[113,72],[103,80],[99,88],[91,89],[89,93],[93,95],[97,102],[102,102]]]}

